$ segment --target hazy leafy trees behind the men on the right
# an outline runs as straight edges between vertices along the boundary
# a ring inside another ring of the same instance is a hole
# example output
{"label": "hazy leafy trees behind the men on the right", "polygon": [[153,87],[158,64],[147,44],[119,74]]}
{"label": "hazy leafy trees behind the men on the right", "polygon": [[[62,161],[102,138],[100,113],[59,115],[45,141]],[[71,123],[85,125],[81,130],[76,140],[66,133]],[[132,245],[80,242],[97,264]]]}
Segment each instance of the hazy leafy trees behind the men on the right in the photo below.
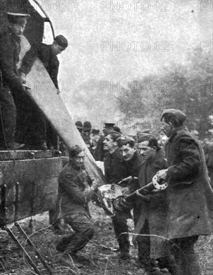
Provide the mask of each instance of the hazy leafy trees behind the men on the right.
{"label": "hazy leafy trees behind the men on the right", "polygon": [[190,130],[200,138],[210,133],[213,114],[212,53],[195,49],[187,66],[172,64],[164,75],[148,75],[129,92],[118,97],[120,110],[126,119],[160,118],[164,108],[179,108],[187,116]]}

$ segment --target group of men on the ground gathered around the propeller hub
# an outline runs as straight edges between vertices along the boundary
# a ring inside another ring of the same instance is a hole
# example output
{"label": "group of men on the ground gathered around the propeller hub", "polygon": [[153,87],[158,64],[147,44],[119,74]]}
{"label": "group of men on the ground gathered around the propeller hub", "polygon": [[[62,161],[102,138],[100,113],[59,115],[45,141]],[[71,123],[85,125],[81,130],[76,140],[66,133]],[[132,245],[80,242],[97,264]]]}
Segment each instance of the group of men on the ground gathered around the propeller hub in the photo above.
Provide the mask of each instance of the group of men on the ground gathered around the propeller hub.
{"label": "group of men on the ground gathered around the propeller hub", "polygon": [[[195,244],[199,235],[213,233],[213,189],[205,154],[185,120],[180,110],[163,110],[161,130],[167,136],[164,147],[152,133],[139,133],[136,146],[134,138],[123,135],[112,123],[105,124],[103,137],[95,143],[97,149],[101,140],[106,152],[103,161],[107,183],[122,188],[119,211],[112,216],[118,256],[131,260],[127,219],[133,218],[138,262],[149,274],[160,275],[168,270],[171,275],[201,275]],[[76,121],[76,126],[88,142],[89,133],[84,136],[84,129],[91,134],[91,124]],[[95,155],[91,143],[87,144]],[[75,232],[63,237],[57,250],[64,256],[77,257],[77,251],[94,234],[87,202],[95,196],[100,181],[89,181],[83,148],[76,145],[69,148],[69,153],[70,162],[59,176],[59,200],[62,217]],[[168,187],[139,193],[158,171],[158,182],[167,182]],[[126,197],[133,192],[137,198],[128,203]]]}

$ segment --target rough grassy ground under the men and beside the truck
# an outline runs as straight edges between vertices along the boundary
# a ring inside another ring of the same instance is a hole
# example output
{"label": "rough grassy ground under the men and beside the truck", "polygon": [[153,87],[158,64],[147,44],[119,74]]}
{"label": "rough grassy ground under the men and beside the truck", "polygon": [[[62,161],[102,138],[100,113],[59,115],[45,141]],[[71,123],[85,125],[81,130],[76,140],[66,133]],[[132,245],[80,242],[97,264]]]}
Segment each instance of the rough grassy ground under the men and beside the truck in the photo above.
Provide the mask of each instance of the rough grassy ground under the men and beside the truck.
{"label": "rough grassy ground under the men and beside the truck", "polygon": [[[55,234],[48,224],[48,213],[39,214],[33,217],[33,228],[29,229],[29,219],[20,221],[30,239],[39,250],[43,258],[51,267],[54,275],[146,275],[147,273],[139,268],[137,264],[137,251],[134,245],[131,246],[131,260],[119,261],[118,252],[115,251],[117,242],[111,223],[111,218],[97,206],[91,206],[91,213],[96,228],[94,238],[80,252],[87,257],[86,262],[79,266],[70,258],[64,262],[61,253],[55,249],[56,243],[62,237]],[[130,227],[132,223],[130,220]],[[41,274],[48,274],[38,257],[32,253],[32,249],[26,244],[15,226],[11,226],[12,231],[27,250]],[[67,228],[69,230],[69,228]],[[8,243],[7,243],[8,242]],[[197,243],[202,275],[213,274],[213,236],[200,236]],[[8,239],[5,231],[0,232],[0,275],[30,275],[36,274],[28,264],[23,252],[17,245]],[[168,273],[169,274],[169,273]],[[187,275],[187,274],[186,274]]]}

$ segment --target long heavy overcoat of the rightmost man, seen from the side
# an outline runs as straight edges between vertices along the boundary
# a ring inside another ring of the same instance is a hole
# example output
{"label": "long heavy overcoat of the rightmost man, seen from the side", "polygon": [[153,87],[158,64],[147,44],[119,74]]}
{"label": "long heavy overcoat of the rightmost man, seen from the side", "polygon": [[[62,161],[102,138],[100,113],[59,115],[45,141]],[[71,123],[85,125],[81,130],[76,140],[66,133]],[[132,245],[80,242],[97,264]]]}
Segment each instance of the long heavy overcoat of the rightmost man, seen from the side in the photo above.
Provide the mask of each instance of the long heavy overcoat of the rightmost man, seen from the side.
{"label": "long heavy overcoat of the rightmost man, seen from the side", "polygon": [[211,234],[213,189],[203,148],[187,127],[176,128],[166,145],[168,238]]}

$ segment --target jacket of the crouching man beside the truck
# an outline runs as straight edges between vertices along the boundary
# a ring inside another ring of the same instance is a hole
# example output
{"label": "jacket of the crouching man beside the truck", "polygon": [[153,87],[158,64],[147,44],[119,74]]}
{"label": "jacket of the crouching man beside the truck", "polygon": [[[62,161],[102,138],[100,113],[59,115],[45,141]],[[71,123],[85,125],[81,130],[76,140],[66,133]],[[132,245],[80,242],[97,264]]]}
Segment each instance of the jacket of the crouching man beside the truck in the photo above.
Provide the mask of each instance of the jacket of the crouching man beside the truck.
{"label": "jacket of the crouching man beside the truck", "polygon": [[62,214],[89,212],[88,200],[91,185],[85,169],[75,169],[70,163],[65,165],[58,178],[58,202]]}

